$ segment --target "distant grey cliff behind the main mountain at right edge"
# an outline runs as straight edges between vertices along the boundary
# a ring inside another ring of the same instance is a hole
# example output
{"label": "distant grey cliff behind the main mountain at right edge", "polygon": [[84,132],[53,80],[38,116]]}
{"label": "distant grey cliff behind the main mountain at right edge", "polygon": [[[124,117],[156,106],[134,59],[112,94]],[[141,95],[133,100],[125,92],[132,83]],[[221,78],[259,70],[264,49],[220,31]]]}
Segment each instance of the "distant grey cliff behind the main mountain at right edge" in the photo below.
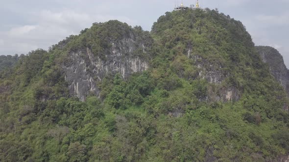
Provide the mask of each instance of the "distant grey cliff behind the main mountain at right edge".
{"label": "distant grey cliff behind the main mountain at right edge", "polygon": [[257,46],[256,49],[263,62],[268,63],[270,73],[289,94],[289,70],[284,64],[282,55],[275,48],[269,46]]}

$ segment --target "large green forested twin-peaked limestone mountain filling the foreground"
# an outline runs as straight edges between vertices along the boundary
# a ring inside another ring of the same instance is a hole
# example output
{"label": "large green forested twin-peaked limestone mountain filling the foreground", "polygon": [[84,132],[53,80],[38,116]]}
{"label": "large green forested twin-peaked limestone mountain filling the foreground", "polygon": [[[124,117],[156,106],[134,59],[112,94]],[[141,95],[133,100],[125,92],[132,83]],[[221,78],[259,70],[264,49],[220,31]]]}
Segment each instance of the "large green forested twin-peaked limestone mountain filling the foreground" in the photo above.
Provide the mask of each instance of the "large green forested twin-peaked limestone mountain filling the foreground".
{"label": "large green forested twin-peaked limestone mountain filling the foreground", "polygon": [[0,72],[0,161],[285,161],[289,100],[257,50],[214,10],[94,23]]}

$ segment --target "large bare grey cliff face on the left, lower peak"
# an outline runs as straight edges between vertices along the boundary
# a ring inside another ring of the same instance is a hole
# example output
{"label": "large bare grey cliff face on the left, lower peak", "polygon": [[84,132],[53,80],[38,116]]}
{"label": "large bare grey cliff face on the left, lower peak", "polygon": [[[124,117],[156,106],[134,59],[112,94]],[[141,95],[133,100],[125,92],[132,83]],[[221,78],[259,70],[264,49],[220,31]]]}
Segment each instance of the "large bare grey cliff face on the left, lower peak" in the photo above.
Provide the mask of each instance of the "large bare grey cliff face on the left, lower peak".
{"label": "large bare grey cliff face on the left, lower peak", "polygon": [[85,52],[70,53],[71,63],[63,67],[70,94],[85,101],[90,93],[99,95],[97,82],[106,75],[120,73],[126,79],[130,74],[148,68],[148,61],[134,55],[140,48],[146,53],[146,47],[142,43],[138,44],[133,35],[111,44],[104,58],[95,56],[88,47]]}

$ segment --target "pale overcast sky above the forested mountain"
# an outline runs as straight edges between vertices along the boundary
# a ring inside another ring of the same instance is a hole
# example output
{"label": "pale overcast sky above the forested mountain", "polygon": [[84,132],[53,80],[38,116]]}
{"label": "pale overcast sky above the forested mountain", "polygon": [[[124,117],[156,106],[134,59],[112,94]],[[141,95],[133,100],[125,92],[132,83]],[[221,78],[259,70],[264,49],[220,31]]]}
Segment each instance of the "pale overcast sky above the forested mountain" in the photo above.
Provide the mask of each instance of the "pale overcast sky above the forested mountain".
{"label": "pale overcast sky above the forested mountain", "polygon": [[[48,49],[93,22],[120,20],[150,31],[181,0],[0,0],[0,55]],[[190,6],[196,0],[183,0]],[[200,0],[241,20],[256,45],[279,50],[289,67],[289,0]]]}

